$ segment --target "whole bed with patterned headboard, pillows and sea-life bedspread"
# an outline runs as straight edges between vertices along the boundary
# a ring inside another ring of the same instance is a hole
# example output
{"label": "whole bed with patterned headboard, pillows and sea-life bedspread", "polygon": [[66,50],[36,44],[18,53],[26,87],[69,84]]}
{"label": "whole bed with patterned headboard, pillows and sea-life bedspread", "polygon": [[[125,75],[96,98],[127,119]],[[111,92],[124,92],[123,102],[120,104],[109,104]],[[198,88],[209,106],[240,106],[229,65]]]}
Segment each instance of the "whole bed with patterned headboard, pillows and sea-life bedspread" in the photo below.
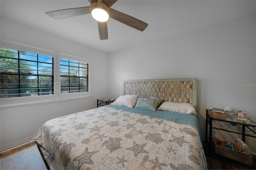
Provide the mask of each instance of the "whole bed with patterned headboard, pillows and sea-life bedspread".
{"label": "whole bed with patterned headboard, pillows and sea-life bedspread", "polygon": [[123,84],[123,95],[111,105],[42,125],[34,140],[48,168],[207,169],[194,113],[197,79]]}

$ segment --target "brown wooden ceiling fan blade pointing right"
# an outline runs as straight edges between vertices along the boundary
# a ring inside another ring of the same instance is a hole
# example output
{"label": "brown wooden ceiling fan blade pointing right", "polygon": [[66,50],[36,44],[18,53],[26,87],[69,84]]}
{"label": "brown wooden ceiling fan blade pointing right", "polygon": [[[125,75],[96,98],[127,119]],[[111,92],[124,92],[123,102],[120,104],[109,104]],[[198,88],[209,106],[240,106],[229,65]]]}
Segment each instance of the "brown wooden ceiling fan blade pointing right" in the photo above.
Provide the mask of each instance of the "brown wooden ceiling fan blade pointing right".
{"label": "brown wooden ceiling fan blade pointing right", "polygon": [[119,22],[122,22],[123,24],[126,24],[140,31],[144,31],[148,26],[147,23],[112,8],[110,8],[110,18],[113,18]]}

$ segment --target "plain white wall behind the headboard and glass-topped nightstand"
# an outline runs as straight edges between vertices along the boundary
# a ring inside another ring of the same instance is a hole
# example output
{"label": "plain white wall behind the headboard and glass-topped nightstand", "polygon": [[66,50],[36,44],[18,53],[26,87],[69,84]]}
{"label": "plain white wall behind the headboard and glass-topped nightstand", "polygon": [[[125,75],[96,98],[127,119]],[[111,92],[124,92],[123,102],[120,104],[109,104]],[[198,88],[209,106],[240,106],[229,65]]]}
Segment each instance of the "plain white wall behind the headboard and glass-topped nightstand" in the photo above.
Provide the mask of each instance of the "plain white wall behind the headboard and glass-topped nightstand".
{"label": "plain white wall behind the headboard and glass-topped nightstand", "polygon": [[[111,53],[109,71],[113,97],[123,80],[198,78],[203,137],[207,108],[230,106],[256,121],[256,87],[244,86],[256,84],[256,13]],[[223,140],[241,138],[220,132]],[[255,138],[248,141],[256,149]]]}

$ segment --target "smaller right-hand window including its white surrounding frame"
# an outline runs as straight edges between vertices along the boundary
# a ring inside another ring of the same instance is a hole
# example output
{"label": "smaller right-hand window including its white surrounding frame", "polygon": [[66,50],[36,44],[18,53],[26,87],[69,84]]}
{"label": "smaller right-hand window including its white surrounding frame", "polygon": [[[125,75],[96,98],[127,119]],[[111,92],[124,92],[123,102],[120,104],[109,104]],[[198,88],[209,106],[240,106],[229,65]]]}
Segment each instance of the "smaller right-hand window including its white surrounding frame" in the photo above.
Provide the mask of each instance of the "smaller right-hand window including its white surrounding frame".
{"label": "smaller right-hand window including its white surrounding frame", "polygon": [[58,53],[58,99],[90,96],[90,59]]}

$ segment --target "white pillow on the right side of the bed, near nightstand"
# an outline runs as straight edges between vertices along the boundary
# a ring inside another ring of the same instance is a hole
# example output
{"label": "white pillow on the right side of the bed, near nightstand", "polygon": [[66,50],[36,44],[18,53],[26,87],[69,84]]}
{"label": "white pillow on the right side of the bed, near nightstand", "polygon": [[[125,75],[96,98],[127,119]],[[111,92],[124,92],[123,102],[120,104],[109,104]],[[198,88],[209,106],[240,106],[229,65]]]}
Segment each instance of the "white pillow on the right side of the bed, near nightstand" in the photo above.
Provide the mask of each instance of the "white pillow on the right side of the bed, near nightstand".
{"label": "white pillow on the right side of the bed, near nightstand", "polygon": [[157,110],[196,115],[195,107],[189,103],[173,103],[166,101],[162,103],[162,105],[160,105]]}

